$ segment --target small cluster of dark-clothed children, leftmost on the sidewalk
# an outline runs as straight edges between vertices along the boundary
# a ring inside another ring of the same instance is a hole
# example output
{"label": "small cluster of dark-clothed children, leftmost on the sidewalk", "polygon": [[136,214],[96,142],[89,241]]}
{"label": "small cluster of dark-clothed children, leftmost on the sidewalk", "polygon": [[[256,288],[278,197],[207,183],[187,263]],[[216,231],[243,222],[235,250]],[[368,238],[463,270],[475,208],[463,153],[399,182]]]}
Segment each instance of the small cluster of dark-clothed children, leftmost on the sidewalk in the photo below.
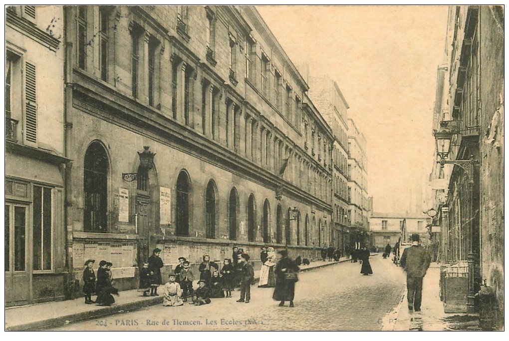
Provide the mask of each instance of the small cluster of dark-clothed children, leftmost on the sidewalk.
{"label": "small cluster of dark-clothed children, leftmost on the sidewalk", "polygon": [[[119,290],[115,288],[113,276],[111,275],[110,262],[100,261],[99,269],[96,274],[94,272],[95,260],[89,259],[85,262],[83,270],[83,293],[85,294],[85,304],[96,303],[97,305],[111,305],[115,303],[113,295],[119,295]],[[92,301],[92,295],[96,294],[97,298]]]}

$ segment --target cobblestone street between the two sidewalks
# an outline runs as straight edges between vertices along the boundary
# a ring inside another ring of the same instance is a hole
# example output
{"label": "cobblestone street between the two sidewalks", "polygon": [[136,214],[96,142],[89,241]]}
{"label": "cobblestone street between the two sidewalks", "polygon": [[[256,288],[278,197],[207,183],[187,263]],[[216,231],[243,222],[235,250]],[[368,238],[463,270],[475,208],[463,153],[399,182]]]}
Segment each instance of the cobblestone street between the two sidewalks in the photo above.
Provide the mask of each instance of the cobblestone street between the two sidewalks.
{"label": "cobblestone street between the two sidewalks", "polygon": [[362,276],[360,264],[350,262],[301,273],[294,308],[288,302],[278,307],[273,289],[252,286],[248,304],[235,302],[236,291],[204,306],[150,306],[52,330],[380,330],[401,300],[405,278],[381,255],[371,264],[371,276]]}

